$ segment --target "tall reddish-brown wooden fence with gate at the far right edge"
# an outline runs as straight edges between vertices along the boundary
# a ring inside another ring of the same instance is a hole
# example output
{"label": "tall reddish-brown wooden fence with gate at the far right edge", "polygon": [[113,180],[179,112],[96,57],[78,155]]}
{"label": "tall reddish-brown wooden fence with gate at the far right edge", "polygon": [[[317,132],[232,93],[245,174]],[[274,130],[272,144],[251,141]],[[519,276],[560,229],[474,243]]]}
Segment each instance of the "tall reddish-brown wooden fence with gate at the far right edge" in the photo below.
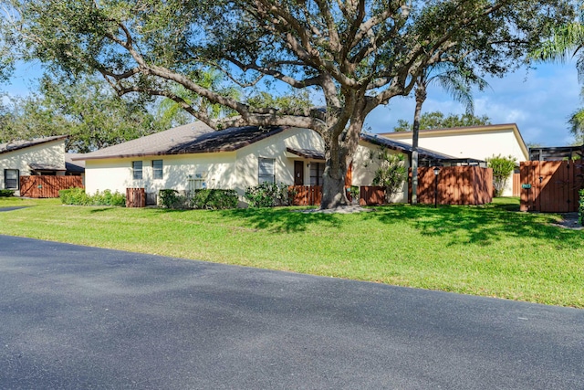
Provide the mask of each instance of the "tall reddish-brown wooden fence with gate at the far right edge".
{"label": "tall reddish-brown wooden fence with gate at the far right edge", "polygon": [[520,163],[521,211],[569,213],[578,211],[578,191],[584,182],[579,161]]}

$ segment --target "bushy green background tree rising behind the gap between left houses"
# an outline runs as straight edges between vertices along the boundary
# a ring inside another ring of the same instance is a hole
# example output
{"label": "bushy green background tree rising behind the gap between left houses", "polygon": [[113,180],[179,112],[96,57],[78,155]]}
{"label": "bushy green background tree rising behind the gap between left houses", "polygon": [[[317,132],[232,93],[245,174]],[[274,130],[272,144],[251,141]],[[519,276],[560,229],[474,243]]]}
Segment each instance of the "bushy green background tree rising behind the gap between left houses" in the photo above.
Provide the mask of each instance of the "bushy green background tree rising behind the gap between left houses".
{"label": "bushy green background tree rising behind the gap between left houses", "polygon": [[68,151],[91,152],[163,130],[166,122],[151,115],[148,105],[120,98],[103,79],[45,77],[35,94],[15,100],[0,139],[68,135]]}

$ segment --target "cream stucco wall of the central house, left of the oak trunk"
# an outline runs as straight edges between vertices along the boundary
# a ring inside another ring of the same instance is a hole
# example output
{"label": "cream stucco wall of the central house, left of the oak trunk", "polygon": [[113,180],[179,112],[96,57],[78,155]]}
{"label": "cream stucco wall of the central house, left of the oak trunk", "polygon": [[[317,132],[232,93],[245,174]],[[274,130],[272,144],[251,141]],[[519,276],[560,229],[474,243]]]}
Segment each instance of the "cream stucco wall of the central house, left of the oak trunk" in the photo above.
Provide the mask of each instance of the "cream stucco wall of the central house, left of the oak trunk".
{"label": "cream stucco wall of the central house, left of the oak trunk", "polygon": [[[157,194],[163,188],[188,189],[189,176],[204,174],[207,188],[235,189],[241,196],[245,188],[258,184],[259,158],[275,159],[276,183],[294,183],[294,160],[287,157],[287,147],[322,150],[322,140],[307,129],[288,129],[235,152],[193,153],[86,161],[86,191],[119,191],[143,187]],[[298,160],[301,158],[298,156]],[[162,160],[162,179],[153,179],[152,160]],[[132,179],[132,162],[142,162],[142,180]],[[305,164],[305,178],[308,167]]]}

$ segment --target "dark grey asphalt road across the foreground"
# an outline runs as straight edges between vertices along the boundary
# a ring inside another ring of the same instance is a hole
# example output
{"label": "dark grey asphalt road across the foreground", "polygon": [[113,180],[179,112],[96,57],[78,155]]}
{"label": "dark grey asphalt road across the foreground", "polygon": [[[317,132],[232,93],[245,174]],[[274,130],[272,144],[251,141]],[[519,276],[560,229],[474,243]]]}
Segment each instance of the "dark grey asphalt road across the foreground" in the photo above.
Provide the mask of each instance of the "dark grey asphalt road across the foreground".
{"label": "dark grey asphalt road across the foreground", "polygon": [[584,311],[0,236],[0,388],[583,389]]}

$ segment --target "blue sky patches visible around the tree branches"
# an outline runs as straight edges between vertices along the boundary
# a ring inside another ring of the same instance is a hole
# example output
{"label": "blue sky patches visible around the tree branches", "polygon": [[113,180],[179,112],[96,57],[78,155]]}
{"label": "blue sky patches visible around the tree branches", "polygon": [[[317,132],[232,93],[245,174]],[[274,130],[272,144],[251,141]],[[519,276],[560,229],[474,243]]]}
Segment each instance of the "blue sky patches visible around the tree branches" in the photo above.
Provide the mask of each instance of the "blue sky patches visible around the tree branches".
{"label": "blue sky patches visible around the tree branches", "polygon": [[[39,76],[39,67],[21,64],[9,85],[0,85],[11,95],[26,95]],[[474,93],[474,113],[487,115],[492,123],[516,123],[528,144],[566,146],[574,142],[568,132],[568,117],[580,107],[580,86],[574,63],[539,64],[537,69],[519,69],[503,79],[487,79],[490,87]],[[412,98],[396,98],[370,113],[369,132],[391,132],[400,119],[412,121]],[[428,90],[424,112],[464,112],[438,86]]]}

